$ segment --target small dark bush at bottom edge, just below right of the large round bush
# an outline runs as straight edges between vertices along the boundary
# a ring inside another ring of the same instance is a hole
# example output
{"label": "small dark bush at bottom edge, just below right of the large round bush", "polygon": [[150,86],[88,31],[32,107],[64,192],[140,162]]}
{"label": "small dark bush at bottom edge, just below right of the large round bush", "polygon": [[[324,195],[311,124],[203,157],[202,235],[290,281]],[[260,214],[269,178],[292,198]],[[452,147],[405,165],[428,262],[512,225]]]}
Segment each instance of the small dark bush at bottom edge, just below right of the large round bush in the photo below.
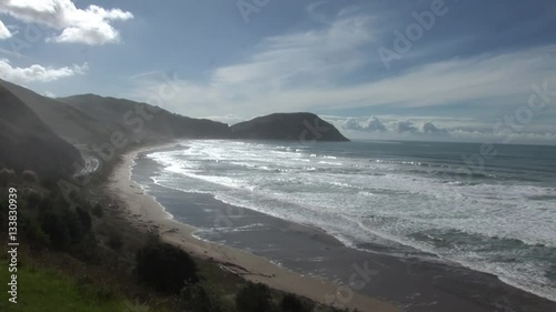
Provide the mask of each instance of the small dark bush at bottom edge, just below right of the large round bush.
{"label": "small dark bush at bottom edge, just below right of the large round bush", "polygon": [[224,304],[217,295],[205,286],[196,284],[181,290],[180,300],[188,311],[196,312],[222,312]]}

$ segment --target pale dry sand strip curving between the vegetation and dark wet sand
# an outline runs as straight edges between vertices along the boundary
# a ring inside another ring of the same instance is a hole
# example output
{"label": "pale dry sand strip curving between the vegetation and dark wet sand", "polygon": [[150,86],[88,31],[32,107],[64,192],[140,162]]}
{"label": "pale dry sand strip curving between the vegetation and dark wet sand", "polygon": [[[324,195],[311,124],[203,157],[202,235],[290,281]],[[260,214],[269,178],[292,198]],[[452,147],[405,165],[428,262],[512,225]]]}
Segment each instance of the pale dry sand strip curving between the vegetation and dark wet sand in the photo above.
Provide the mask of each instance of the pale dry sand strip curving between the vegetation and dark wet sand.
{"label": "pale dry sand strip curving between the vegetation and dark wet sand", "polygon": [[[222,270],[231,271],[249,281],[261,282],[280,291],[330,304],[331,302],[327,299],[337,296],[338,290],[340,290],[338,285],[292,272],[278,266],[268,259],[196,238],[193,235],[197,231],[195,227],[175,220],[157,202],[155,197],[147,194],[143,188],[131,179],[131,167],[137,155],[178,144],[178,142],[171,142],[149,145],[122,154],[121,162],[115,167],[107,183],[109,194],[125,205],[121,211],[123,212],[122,217],[132,227],[142,231],[158,232],[163,241],[176,244],[188,253],[218,262]],[[354,293],[348,302],[335,302],[332,305],[374,312],[401,311],[395,303],[358,293]]]}

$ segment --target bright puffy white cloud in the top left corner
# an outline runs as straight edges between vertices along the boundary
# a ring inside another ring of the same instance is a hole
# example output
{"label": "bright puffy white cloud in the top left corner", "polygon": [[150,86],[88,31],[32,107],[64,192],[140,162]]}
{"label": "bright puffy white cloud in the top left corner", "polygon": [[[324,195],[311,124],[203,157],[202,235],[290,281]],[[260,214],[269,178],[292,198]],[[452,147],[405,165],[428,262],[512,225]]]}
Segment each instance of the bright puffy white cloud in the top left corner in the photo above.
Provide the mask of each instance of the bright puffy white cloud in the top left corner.
{"label": "bright puffy white cloud in the top left corner", "polygon": [[98,6],[78,9],[70,0],[0,0],[0,13],[61,30],[59,36],[47,38],[47,41],[90,46],[118,42],[120,36],[111,22],[133,18],[132,13],[120,9],[106,10]]}

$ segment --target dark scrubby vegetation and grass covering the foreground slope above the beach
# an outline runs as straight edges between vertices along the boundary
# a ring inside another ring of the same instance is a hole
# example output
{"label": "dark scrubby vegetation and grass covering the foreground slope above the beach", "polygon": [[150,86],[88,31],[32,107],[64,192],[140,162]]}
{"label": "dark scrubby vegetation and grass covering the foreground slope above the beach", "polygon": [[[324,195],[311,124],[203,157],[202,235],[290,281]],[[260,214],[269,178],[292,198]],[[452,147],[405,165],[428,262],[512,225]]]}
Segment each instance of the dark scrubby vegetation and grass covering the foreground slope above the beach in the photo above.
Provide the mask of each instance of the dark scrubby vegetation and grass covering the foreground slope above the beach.
{"label": "dark scrubby vegetation and grass covering the foreground slope above the beach", "polygon": [[[0,244],[7,243],[7,185],[18,189],[18,304],[2,291],[0,311],[336,311],[254,284],[211,260],[146,234],[121,218],[100,187],[73,194],[70,208],[53,183],[0,170]],[[0,255],[0,280],[8,280]],[[9,305],[11,304],[11,305]]]}

